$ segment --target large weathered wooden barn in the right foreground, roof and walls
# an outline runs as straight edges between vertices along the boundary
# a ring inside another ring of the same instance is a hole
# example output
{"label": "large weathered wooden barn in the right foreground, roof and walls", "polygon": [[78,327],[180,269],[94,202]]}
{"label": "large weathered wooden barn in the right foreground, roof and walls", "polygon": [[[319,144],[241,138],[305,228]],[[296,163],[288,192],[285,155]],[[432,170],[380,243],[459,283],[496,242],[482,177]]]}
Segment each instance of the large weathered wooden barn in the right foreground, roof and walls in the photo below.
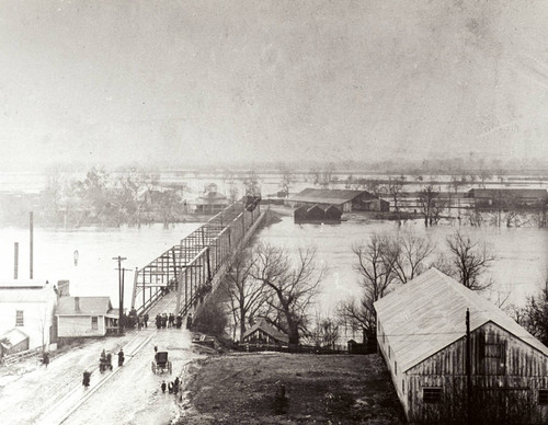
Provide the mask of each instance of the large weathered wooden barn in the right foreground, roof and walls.
{"label": "large weathered wooden barn in the right foreground, roof and walls", "polygon": [[548,423],[548,348],[486,298],[431,268],[375,310],[410,422],[445,423],[469,406],[475,423]]}

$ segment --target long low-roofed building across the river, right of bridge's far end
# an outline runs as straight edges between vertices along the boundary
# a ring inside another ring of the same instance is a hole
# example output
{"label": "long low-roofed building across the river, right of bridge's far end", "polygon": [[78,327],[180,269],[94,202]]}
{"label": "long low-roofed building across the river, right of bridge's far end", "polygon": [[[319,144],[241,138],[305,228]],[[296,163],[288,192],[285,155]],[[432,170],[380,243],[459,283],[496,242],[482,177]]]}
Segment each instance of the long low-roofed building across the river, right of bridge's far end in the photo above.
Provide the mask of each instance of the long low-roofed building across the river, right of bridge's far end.
{"label": "long low-roofed building across the river, right of bridge's far end", "polygon": [[306,188],[286,199],[292,207],[319,205],[328,208],[333,205],[343,213],[388,211],[390,204],[367,191]]}

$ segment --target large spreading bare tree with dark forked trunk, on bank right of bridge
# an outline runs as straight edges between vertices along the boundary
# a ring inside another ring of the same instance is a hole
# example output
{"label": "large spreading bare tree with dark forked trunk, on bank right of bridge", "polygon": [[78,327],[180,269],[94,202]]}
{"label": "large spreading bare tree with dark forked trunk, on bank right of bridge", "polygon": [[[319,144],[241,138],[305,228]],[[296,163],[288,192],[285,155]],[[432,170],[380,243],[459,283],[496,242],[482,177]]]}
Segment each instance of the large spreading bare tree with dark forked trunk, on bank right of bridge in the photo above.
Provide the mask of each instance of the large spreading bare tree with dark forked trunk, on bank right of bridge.
{"label": "large spreading bare tree with dark forked trunk, on bank right of bridge", "polygon": [[267,302],[275,312],[274,319],[267,319],[287,333],[289,344],[298,344],[300,335],[308,332],[308,308],[326,269],[316,267],[312,248],[298,250],[295,266],[282,248],[259,245],[254,255],[252,276],[270,292]]}

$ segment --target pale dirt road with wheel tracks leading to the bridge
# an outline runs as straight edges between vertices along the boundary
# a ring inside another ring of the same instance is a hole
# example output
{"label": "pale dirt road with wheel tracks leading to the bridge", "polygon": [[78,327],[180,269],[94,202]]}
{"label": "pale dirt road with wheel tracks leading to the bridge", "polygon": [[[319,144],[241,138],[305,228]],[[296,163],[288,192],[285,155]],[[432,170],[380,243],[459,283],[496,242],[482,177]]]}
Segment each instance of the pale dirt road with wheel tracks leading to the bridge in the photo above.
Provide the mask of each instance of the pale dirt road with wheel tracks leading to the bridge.
{"label": "pale dirt road with wheel tracks leading to the bridge", "polygon": [[[191,344],[186,330],[148,328],[53,356],[47,369],[36,360],[20,365],[0,377],[2,424],[168,424],[179,412],[174,397],[162,394],[160,384],[181,376],[198,357]],[[118,368],[121,346],[125,363]],[[155,346],[168,351],[172,375],[152,372]],[[103,348],[113,354],[114,368],[100,374]],[[92,371],[88,389],[82,386],[84,370]]]}

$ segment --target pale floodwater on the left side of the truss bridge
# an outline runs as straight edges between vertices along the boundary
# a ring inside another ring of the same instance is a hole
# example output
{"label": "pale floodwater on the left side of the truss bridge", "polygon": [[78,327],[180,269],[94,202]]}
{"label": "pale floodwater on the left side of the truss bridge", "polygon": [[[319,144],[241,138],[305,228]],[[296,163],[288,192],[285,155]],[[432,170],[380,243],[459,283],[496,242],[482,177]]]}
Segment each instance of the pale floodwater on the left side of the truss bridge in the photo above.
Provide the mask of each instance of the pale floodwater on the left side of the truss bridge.
{"label": "pale floodwater on the left side of the truss bridge", "polygon": [[[113,228],[42,229],[34,228],[34,279],[70,280],[72,296],[110,296],[118,302],[117,261],[124,272],[124,305],[129,306],[135,267],[141,268],[168,251],[201,223],[179,223]],[[30,277],[28,229],[0,229],[0,280],[12,279],[14,242],[19,242],[19,278]],[[75,252],[78,252],[75,254]],[[78,262],[75,257],[78,257]]]}

